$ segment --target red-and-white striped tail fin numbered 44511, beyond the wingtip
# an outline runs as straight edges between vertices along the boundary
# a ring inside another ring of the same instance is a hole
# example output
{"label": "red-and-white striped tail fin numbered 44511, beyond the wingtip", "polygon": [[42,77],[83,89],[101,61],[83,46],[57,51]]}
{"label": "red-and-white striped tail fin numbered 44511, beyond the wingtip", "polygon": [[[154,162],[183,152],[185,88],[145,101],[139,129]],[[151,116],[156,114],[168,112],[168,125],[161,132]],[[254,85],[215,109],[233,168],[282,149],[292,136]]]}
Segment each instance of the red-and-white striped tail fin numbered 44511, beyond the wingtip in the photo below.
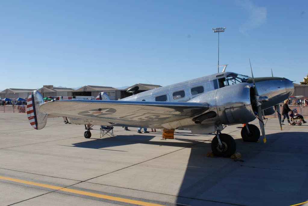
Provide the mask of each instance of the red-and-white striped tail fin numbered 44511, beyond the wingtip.
{"label": "red-and-white striped tail fin numbered 44511, beyond the wingtip", "polygon": [[30,125],[34,129],[43,129],[47,123],[48,114],[39,111],[39,106],[44,103],[41,93],[32,91],[27,100],[27,115]]}

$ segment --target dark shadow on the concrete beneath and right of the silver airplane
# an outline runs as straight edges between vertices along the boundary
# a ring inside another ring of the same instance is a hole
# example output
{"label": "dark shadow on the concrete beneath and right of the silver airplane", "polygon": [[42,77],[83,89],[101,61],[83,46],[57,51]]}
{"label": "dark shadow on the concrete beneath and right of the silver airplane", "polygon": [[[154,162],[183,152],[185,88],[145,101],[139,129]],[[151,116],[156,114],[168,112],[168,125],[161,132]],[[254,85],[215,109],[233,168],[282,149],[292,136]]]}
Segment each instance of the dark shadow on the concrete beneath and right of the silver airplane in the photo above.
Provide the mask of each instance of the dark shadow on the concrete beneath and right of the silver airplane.
{"label": "dark shadow on the concrete beneath and right of the silver airplane", "polygon": [[236,139],[243,162],[206,157],[214,136],[205,136],[204,141],[176,138],[182,142],[170,142],[151,141],[156,136],[149,135],[119,135],[91,138],[72,147],[106,149],[140,143],[191,147],[177,205],[292,205],[307,201],[306,135],[303,132],[268,134],[266,144],[262,137],[259,142]]}

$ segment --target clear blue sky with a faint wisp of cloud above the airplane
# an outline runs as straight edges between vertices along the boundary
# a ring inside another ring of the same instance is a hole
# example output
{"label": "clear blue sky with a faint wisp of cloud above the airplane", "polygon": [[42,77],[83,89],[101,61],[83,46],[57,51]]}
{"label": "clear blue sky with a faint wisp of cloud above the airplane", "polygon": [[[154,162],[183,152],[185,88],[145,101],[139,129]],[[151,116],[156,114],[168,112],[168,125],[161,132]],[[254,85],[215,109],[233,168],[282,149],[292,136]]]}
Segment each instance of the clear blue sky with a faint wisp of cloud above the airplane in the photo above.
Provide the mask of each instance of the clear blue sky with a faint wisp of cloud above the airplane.
{"label": "clear blue sky with a faint wisp of cloud above the airplane", "polygon": [[306,0],[0,0],[0,90],[307,76]]}

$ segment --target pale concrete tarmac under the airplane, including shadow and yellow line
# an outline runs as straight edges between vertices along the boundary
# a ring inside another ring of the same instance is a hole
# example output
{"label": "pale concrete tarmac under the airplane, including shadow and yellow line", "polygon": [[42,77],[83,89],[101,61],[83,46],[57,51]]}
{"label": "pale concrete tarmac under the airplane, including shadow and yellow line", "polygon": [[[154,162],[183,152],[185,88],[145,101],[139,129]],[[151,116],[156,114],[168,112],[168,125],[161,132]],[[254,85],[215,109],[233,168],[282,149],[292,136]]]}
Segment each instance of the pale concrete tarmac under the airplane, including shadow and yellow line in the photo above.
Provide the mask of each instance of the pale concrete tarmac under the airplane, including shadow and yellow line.
{"label": "pale concrete tarmac under the airplane, including shadow and yellow line", "polygon": [[25,113],[0,117],[0,205],[307,205],[308,123],[281,131],[268,119],[266,144],[227,126],[242,156],[234,161],[206,157],[212,134],[162,140],[115,127],[100,138],[94,126],[86,139],[63,118],[34,130]]}

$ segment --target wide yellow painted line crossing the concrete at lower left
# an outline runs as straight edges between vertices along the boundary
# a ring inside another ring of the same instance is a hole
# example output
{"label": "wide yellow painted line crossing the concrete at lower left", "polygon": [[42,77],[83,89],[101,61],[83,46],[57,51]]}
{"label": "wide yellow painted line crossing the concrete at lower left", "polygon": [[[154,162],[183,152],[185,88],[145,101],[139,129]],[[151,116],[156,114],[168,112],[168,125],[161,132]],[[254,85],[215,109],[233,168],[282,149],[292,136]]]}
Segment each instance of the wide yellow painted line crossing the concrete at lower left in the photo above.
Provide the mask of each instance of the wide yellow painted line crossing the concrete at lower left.
{"label": "wide yellow painted line crossing the concrete at lower left", "polygon": [[125,198],[120,198],[120,197],[101,195],[101,194],[97,194],[97,193],[93,193],[93,192],[84,192],[84,191],[81,191],[81,190],[57,187],[57,186],[53,186],[53,185],[49,185],[49,184],[41,184],[41,183],[30,182],[30,181],[26,181],[26,180],[19,180],[19,179],[14,179],[14,178],[10,178],[10,177],[4,177],[4,176],[0,176],[0,179],[12,181],[12,182],[18,182],[18,183],[22,183],[22,184],[34,185],[34,186],[43,187],[43,188],[50,188],[50,189],[54,189],[54,190],[60,190],[60,191],[70,192],[70,193],[75,193],[75,194],[80,194],[80,195],[98,197],[98,198],[102,198],[102,199],[106,199],[106,200],[114,200],[114,201],[118,201],[118,202],[125,202],[125,203],[144,205],[144,206],[164,206],[164,205],[161,205],[161,204],[153,204],[153,203],[142,202],[142,201],[138,201],[138,200],[130,200],[130,199],[125,199]]}

